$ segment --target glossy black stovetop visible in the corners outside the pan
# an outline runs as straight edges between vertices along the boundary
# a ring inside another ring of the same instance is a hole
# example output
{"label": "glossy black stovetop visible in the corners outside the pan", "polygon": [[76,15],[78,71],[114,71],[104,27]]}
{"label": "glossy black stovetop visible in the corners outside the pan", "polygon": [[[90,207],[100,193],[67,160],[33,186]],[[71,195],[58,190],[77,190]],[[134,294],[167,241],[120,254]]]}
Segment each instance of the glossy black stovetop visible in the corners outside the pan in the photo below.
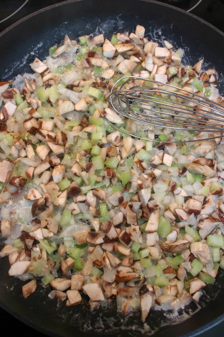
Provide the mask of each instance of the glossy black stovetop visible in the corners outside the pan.
{"label": "glossy black stovetop visible in the corners outside the pan", "polygon": [[[193,7],[198,0],[160,0],[161,2],[169,3],[179,8],[188,10]],[[5,20],[1,23],[1,21],[8,17],[11,13],[13,13],[17,8],[19,8],[25,0],[1,0],[1,11],[0,11],[0,32],[12,25],[14,22],[18,21],[21,18],[44,8],[46,6],[50,6],[59,2],[60,0],[29,0],[23,8],[21,8],[17,13],[15,13],[12,17]],[[206,20],[211,23],[215,27],[224,31],[224,0],[202,0],[196,8],[194,8],[191,13],[196,16]],[[17,335],[32,335],[33,337],[44,337],[46,335],[37,332],[36,330],[25,326],[25,324],[21,323],[15,318],[12,318],[10,314],[5,312],[0,308],[0,317],[1,321],[5,322],[5,326],[10,326],[11,335],[16,332]],[[13,328],[14,327],[14,328]],[[211,336],[223,336],[224,331],[224,322],[216,325],[211,330],[208,330],[202,334],[199,334],[200,337],[211,337]],[[184,331],[183,331],[184,334]]]}

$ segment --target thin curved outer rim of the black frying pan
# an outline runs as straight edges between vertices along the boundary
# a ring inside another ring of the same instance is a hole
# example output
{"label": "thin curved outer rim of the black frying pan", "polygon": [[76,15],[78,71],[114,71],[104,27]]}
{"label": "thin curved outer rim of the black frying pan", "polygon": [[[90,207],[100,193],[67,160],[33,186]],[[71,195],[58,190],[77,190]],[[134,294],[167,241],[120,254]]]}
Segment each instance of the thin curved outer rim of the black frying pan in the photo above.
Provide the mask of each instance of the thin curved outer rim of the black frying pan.
{"label": "thin curved outer rim of the black frying pan", "polygon": [[[57,4],[53,4],[51,6],[47,6],[47,7],[44,7],[38,11],[35,11],[31,14],[29,14],[28,16],[16,21],[14,24],[12,24],[11,26],[9,26],[8,28],[6,28],[5,30],[3,30],[1,33],[0,33],[0,39],[3,35],[5,35],[7,32],[9,32],[11,29],[13,29],[14,27],[18,26],[20,23],[23,23],[24,21],[42,13],[42,12],[45,12],[47,10],[51,10],[52,8],[55,8],[55,7],[59,7],[59,6],[63,6],[63,5],[66,5],[66,4],[70,4],[70,3],[73,3],[73,2],[78,2],[78,1],[83,1],[83,0],[67,0],[67,1],[63,1],[63,2],[60,2],[60,3],[57,3]],[[144,2],[149,2],[149,3],[155,3],[155,4],[158,4],[158,5],[162,5],[162,6],[165,6],[165,7],[169,7],[175,11],[179,11],[179,12],[182,12],[184,14],[187,14],[188,16],[198,20],[199,22],[203,23],[204,25],[212,28],[213,30],[215,30],[217,33],[219,33],[221,36],[224,37],[224,32],[222,32],[220,29],[216,28],[215,26],[213,26],[212,24],[208,23],[207,21],[197,17],[195,14],[192,14],[190,12],[187,12],[181,8],[178,8],[178,7],[175,7],[175,6],[172,6],[170,4],[166,4],[166,3],[162,3],[160,1],[154,1],[154,0],[136,0],[136,1],[144,1]],[[6,312],[8,312],[9,314],[11,314],[12,316],[14,316],[16,319],[20,320],[22,323],[28,325],[29,327],[37,330],[37,331],[40,331],[46,335],[49,335],[49,336],[56,336],[56,337],[61,337],[62,335],[61,334],[57,334],[57,333],[53,333],[51,330],[48,330],[48,329],[45,329],[43,328],[41,325],[37,325],[35,324],[34,322],[32,322],[31,320],[27,319],[26,317],[24,316],[21,316],[18,312],[14,311],[11,307],[9,307],[8,305],[6,305],[4,302],[1,301],[0,299],[0,307],[2,309],[4,309]],[[222,321],[224,321],[224,313],[221,314],[219,317],[211,320],[208,324],[200,327],[200,328],[197,328],[195,330],[193,330],[192,332],[189,332],[187,334],[184,334],[182,336],[179,336],[179,337],[194,337],[194,336],[197,336],[201,333],[204,333],[206,331],[208,331],[209,329],[215,327],[216,325],[218,325],[219,323],[221,323]]]}

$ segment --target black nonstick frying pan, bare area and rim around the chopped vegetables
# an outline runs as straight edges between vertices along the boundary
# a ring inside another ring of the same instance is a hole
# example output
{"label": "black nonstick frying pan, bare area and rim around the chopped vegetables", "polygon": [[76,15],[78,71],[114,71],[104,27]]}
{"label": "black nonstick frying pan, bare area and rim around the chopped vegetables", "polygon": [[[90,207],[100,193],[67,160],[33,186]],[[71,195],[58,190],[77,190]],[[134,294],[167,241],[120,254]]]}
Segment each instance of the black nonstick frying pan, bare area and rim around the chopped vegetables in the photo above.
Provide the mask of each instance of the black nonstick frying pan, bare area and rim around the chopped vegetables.
{"label": "black nonstick frying pan, bare area and rim around the chopped vegetables", "polygon": [[[34,59],[30,53],[44,58],[48,48],[60,44],[65,34],[75,39],[103,32],[110,38],[114,32],[133,31],[137,24],[146,28],[149,39],[165,38],[174,44],[174,48],[183,48],[186,64],[194,64],[204,57],[206,68],[215,67],[218,74],[222,74],[224,34],[192,14],[154,1],[82,0],[40,10],[0,34],[0,80],[30,72],[29,63]],[[219,89],[224,94],[221,75]],[[90,312],[88,298],[82,295],[82,305],[65,307],[65,303],[58,304],[56,299],[47,297],[51,288],[43,287],[41,282],[36,292],[25,300],[21,295],[24,283],[7,276],[7,258],[0,259],[0,267],[0,305],[24,323],[52,336],[126,337],[149,336],[152,332],[155,332],[154,336],[195,336],[224,320],[223,272],[219,272],[214,285],[203,290],[199,305],[192,301],[172,316],[171,312],[151,309],[143,325],[139,311],[123,316],[117,313],[115,301],[107,308]],[[186,317],[188,319],[184,321]]]}

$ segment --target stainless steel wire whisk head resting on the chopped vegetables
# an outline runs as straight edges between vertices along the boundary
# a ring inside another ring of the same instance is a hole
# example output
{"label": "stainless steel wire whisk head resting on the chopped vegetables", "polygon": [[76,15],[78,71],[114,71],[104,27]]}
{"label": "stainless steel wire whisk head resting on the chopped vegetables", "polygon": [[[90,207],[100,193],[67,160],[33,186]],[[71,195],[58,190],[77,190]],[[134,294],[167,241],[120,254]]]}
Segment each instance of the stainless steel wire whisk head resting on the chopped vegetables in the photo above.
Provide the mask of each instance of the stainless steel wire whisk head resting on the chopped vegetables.
{"label": "stainless steel wire whisk head resting on the chopped vegetables", "polygon": [[[127,76],[122,80],[126,78],[119,90],[116,90],[116,85],[120,80],[110,92],[109,104],[117,114],[154,127],[201,132],[199,139],[194,137],[184,142],[222,137],[224,106],[221,104],[171,84],[136,76]],[[132,81],[134,86],[131,86]],[[136,137],[132,133],[127,134]],[[148,140],[140,136],[137,138]]]}

